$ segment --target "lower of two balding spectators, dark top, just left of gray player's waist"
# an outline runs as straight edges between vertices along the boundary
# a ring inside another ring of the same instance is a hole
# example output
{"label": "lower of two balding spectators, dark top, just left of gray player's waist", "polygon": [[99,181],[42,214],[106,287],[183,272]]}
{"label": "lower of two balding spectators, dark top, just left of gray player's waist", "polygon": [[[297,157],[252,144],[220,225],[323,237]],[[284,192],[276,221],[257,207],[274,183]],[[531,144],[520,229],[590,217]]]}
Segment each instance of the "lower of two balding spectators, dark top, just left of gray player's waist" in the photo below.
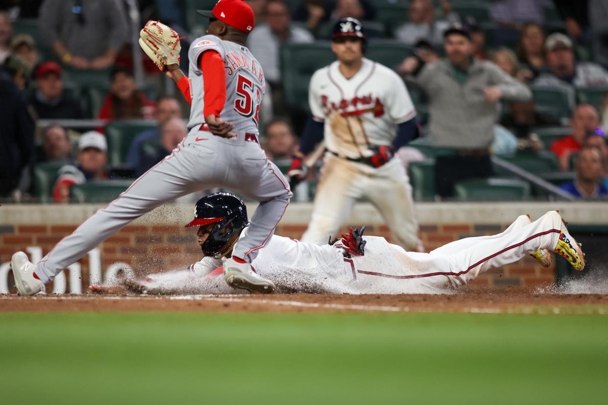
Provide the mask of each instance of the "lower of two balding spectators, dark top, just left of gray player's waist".
{"label": "lower of two balding spectators, dark top, just left of gray player's waist", "polygon": [[[139,160],[135,169],[135,175],[140,175],[147,172],[156,163],[161,162],[165,157],[171,154],[173,149],[178,147],[178,144],[187,137],[188,130],[186,124],[181,118],[171,118],[161,126],[161,137],[159,139],[159,147],[150,148],[154,151],[151,152],[146,148],[141,148],[139,151]],[[148,142],[150,146],[154,145],[154,142]],[[143,146],[143,145],[142,145]]]}

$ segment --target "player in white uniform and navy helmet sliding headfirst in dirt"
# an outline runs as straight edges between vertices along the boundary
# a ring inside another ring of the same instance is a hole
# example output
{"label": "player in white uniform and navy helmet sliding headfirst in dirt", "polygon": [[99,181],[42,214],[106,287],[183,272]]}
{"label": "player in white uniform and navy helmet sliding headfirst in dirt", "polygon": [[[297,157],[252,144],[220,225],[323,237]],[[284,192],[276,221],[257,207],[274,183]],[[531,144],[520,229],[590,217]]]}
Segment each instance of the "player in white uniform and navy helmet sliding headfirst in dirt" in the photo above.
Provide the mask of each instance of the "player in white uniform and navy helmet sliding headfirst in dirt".
{"label": "player in white uniform and navy helmet sliding headfirst in dirt", "polygon": [[[220,219],[218,219],[220,218]],[[134,291],[148,293],[227,293],[221,277],[221,260],[229,256],[241,230],[247,226],[247,209],[238,197],[221,192],[202,197],[195,217],[186,226],[199,226],[198,243],[205,257],[188,269],[153,274],[129,283]],[[533,254],[548,267],[555,251],[584,268],[584,254],[570,236],[557,211],[532,222],[519,216],[504,232],[469,237],[448,243],[430,253],[408,252],[383,237],[350,231],[322,246],[272,236],[252,265],[282,291],[330,293],[441,293],[458,287],[494,267],[511,264]],[[544,261],[542,261],[544,260]],[[219,274],[218,274],[219,273]],[[93,291],[106,291],[92,287]],[[108,292],[111,292],[108,291]]]}

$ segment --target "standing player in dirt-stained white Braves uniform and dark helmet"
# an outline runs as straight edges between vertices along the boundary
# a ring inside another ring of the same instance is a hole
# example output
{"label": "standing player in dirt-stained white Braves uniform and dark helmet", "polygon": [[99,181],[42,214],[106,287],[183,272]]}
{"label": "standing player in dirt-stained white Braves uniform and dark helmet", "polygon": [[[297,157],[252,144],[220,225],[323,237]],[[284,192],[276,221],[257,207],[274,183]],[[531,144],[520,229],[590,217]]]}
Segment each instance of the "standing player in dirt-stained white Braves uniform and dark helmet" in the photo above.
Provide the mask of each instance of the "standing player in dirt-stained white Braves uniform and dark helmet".
{"label": "standing player in dirt-stained white Braves uniform and dark helmet", "polygon": [[304,242],[322,244],[347,219],[354,202],[368,200],[392,236],[409,251],[423,251],[412,186],[395,151],[418,136],[406,86],[388,67],[364,58],[367,41],[354,18],[337,22],[331,49],[337,61],[311,78],[312,117],[288,172],[291,186],[306,172],[303,159],[325,137],[327,152]]}

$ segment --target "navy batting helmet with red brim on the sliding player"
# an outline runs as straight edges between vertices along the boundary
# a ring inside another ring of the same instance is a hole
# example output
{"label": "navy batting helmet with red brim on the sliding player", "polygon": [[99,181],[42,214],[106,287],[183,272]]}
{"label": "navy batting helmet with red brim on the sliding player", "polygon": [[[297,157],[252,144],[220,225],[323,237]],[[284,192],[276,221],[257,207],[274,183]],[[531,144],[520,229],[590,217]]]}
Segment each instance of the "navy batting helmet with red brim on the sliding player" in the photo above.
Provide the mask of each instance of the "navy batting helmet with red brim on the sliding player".
{"label": "navy batting helmet with red brim on the sliding player", "polygon": [[201,245],[205,256],[218,257],[226,243],[241,231],[247,222],[247,207],[243,200],[229,192],[216,192],[196,202],[194,219],[186,226],[202,226],[213,223],[209,237]]}

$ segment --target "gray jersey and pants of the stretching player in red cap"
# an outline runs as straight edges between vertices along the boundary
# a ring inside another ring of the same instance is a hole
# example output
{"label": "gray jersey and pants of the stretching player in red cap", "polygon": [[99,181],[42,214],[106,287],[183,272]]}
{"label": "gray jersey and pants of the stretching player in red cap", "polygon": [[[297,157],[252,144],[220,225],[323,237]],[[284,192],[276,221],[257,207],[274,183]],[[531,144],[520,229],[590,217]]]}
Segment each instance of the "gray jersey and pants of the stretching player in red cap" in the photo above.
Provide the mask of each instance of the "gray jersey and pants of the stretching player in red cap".
{"label": "gray jersey and pants of the stretching player in red cap", "polygon": [[[216,50],[226,63],[227,97],[223,120],[235,124],[235,138],[201,131],[204,94],[196,60]],[[251,262],[271,238],[293,196],[289,184],[260,148],[257,111],[264,92],[264,74],[246,47],[207,35],[190,47],[192,109],[188,136],[177,148],[133,182],[130,188],[62,239],[36,265],[41,281],[60,271],[137,217],[162,203],[209,188],[227,188],[260,202],[243,231],[233,256]]]}

